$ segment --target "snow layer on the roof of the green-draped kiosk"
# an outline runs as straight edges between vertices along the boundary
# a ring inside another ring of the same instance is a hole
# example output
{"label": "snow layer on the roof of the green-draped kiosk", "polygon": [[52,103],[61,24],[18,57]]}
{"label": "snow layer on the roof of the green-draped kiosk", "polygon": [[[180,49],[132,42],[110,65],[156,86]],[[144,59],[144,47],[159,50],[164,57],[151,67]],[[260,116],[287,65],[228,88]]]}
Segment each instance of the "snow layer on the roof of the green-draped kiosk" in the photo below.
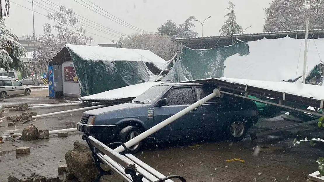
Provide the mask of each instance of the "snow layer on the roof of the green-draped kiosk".
{"label": "snow layer on the roof of the green-draped kiosk", "polygon": [[143,61],[145,63],[154,63],[157,67],[162,68],[167,61],[160,58],[152,51],[142,49],[127,48],[110,48],[100,46],[83,46],[67,44],[75,54],[85,60],[104,60],[110,61]]}

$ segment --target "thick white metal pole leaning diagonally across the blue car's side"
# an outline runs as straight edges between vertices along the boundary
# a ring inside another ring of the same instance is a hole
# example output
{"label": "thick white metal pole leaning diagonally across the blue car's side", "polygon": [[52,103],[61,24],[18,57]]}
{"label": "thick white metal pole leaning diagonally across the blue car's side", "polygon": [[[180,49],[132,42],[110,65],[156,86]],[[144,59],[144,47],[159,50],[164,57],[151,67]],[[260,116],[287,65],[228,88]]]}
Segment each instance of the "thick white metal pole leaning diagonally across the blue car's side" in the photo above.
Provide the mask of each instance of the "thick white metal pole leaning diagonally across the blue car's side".
{"label": "thick white metal pole leaning diagonally across the blue car's side", "polygon": [[[173,116],[171,116],[168,119],[162,121],[161,123],[156,124],[152,128],[146,130],[145,132],[143,132],[143,133],[139,134],[138,136],[134,137],[133,139],[129,140],[124,145],[127,148],[135,145],[136,143],[142,141],[143,139],[145,139],[146,137],[150,136],[151,134],[154,134],[155,132],[157,132],[161,128],[163,128],[166,125],[172,123],[173,121],[175,121],[176,119],[178,119],[181,116],[185,115],[186,113],[188,113],[188,112],[192,111],[193,109],[195,109],[195,108],[203,105],[203,103],[211,100],[214,97],[220,97],[220,96],[221,96],[220,91],[218,89],[214,89],[213,90],[213,93],[211,93],[211,94],[207,95],[206,97],[202,98],[201,100],[193,103],[192,105],[190,105],[187,108],[181,110],[180,112],[174,114]],[[116,151],[116,152],[122,152],[122,151],[124,151],[124,147],[123,146],[119,146],[119,147],[115,148],[114,151]]]}

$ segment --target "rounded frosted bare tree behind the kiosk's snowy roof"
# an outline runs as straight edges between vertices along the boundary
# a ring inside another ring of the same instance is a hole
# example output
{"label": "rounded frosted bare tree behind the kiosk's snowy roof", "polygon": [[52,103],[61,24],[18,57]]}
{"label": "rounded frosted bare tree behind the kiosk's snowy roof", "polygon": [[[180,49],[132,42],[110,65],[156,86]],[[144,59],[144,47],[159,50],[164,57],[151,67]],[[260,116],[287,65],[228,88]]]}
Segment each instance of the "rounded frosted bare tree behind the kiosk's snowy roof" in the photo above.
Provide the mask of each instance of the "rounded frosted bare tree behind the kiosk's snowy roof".
{"label": "rounded frosted bare tree behind the kiosk's snowy roof", "polygon": [[177,52],[177,45],[167,35],[132,34],[122,42],[123,48],[150,50],[165,60],[171,59]]}

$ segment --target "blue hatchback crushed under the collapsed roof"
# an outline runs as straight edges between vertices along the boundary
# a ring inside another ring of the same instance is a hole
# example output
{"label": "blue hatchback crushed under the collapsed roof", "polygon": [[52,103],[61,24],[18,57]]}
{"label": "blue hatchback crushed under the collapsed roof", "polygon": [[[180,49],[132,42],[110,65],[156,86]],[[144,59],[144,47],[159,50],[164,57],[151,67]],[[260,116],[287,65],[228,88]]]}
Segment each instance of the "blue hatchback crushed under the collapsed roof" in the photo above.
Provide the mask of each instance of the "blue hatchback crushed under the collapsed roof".
{"label": "blue hatchback crushed under the collapsed roof", "polygon": [[[101,142],[125,143],[212,91],[212,87],[202,84],[162,83],[129,103],[84,112],[77,129]],[[240,141],[258,118],[254,102],[222,94],[163,127],[146,138],[146,142],[208,137]],[[129,152],[138,152],[141,145],[142,142],[133,145]]]}

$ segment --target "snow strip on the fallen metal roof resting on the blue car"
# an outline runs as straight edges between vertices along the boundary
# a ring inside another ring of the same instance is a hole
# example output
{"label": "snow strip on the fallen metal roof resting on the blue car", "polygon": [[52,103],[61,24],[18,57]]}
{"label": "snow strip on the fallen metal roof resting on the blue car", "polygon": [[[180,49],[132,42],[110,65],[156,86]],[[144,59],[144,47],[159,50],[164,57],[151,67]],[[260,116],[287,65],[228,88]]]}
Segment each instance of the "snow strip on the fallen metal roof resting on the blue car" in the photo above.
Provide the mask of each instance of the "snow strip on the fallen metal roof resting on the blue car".
{"label": "snow strip on the fallen metal roof resting on the blue car", "polygon": [[324,87],[318,85],[276,81],[244,80],[225,77],[215,79],[232,83],[239,83],[252,87],[258,87],[261,89],[267,89],[271,91],[286,92],[288,94],[299,95],[302,97],[314,98],[318,100],[324,99]]}

